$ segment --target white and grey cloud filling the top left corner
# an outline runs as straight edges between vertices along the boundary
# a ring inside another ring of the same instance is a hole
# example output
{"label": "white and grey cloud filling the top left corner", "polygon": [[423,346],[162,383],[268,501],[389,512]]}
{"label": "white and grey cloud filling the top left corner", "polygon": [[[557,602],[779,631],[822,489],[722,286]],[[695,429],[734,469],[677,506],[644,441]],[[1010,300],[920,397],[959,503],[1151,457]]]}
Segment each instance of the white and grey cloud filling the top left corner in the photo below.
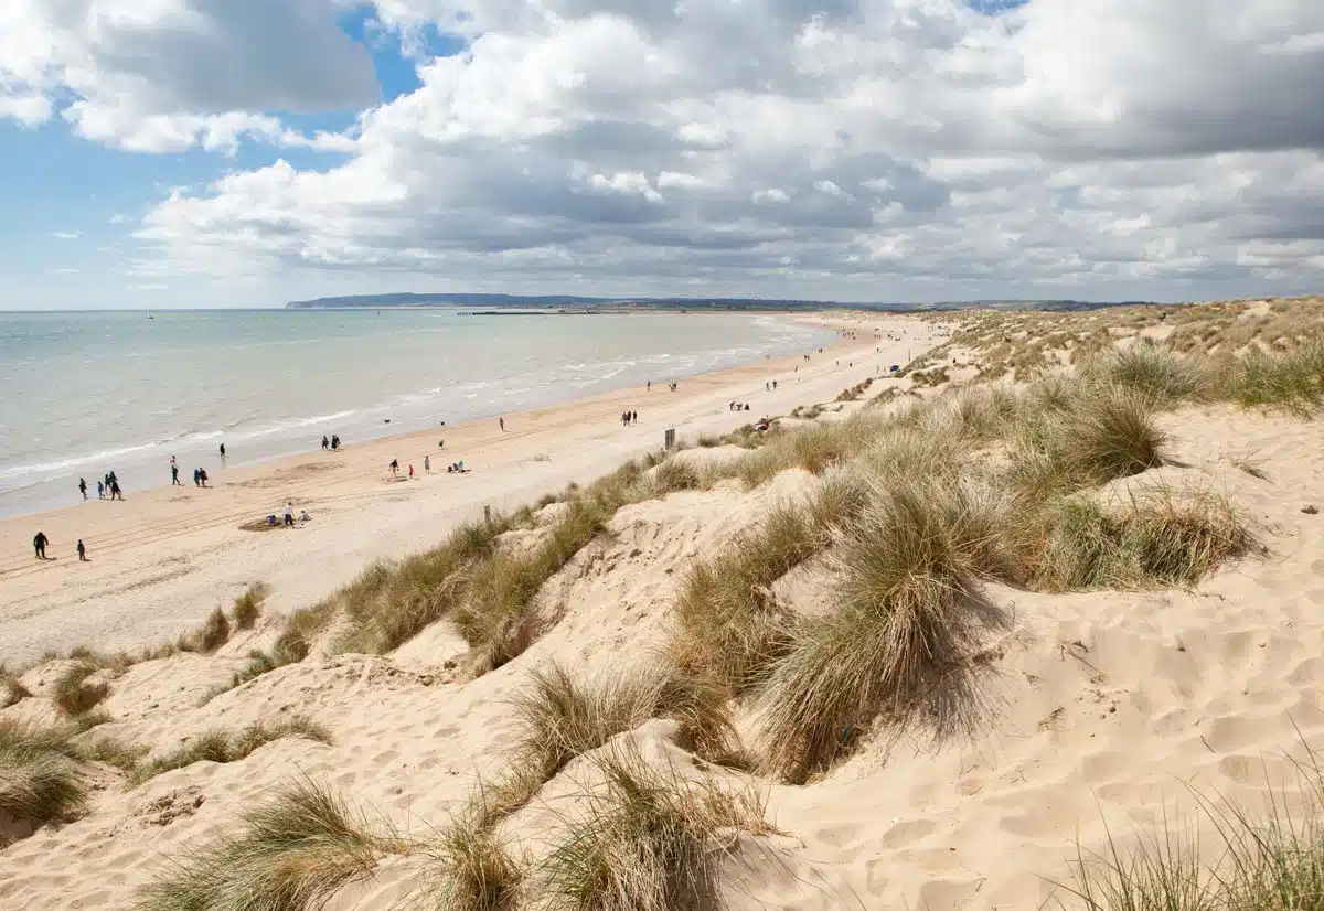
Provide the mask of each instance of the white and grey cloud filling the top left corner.
{"label": "white and grey cloud filling the top left corner", "polygon": [[371,60],[336,26],[339,0],[5,0],[0,117],[58,110],[87,139],[134,151],[233,148],[301,136],[263,111],[359,110],[377,99]]}

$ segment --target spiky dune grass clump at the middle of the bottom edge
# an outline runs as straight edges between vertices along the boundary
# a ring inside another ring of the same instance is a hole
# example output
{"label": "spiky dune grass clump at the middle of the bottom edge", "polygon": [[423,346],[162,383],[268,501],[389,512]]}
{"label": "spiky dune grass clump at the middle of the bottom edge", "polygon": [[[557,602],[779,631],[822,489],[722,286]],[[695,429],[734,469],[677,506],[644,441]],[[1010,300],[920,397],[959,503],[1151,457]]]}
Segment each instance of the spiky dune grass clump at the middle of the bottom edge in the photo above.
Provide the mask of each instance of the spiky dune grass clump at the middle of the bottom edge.
{"label": "spiky dune grass clump at the middle of the bottom edge", "polygon": [[733,850],[732,837],[773,832],[757,792],[688,781],[636,751],[594,764],[602,787],[585,794],[585,810],[565,821],[539,870],[553,911],[720,907],[718,861]]}

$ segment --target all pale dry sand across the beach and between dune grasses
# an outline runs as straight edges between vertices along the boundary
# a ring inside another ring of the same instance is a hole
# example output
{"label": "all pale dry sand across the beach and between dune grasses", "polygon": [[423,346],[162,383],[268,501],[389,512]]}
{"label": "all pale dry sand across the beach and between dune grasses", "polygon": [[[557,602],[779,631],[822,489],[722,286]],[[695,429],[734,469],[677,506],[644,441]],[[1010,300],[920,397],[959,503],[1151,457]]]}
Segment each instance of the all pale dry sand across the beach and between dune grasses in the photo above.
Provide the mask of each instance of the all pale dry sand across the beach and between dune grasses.
{"label": "all pale dry sand across the beach and between dune grasses", "polygon": [[[911,336],[919,331],[907,324]],[[874,343],[862,347],[871,352]],[[835,356],[816,358],[800,383],[792,365],[760,365],[685,383],[677,396],[634,391],[511,417],[506,438],[487,426],[457,428],[448,433],[448,450],[454,440],[475,467],[463,478],[384,479],[392,454],[413,457],[417,467],[430,434],[226,473],[214,493],[131,494],[123,507],[44,516],[64,559],[41,572],[7,564],[0,588],[7,651],[89,636],[107,645],[140,642],[187,625],[254,579],[274,583],[277,606],[297,606],[367,559],[437,540],[449,522],[483,502],[514,503],[596,475],[654,445],[663,426],[730,429],[744,420],[726,412],[731,399],[748,399],[755,414],[830,401],[878,363],[896,360],[861,356],[853,372],[849,358],[839,369]],[[772,375],[782,380],[777,397],[763,393]],[[613,417],[626,407],[638,408],[638,429],[622,430]],[[1162,471],[1231,495],[1270,555],[1225,567],[1190,592],[1050,596],[993,588],[990,597],[1013,621],[989,644],[984,712],[968,735],[874,742],[822,781],[773,788],[769,814],[786,834],[771,839],[752,870],[728,871],[733,908],[1042,907],[1053,881],[1068,877],[1078,838],[1102,850],[1107,824],[1127,843],[1136,824],[1161,824],[1165,812],[1180,818],[1193,802],[1192,787],[1255,801],[1266,768],[1283,771],[1280,753],[1303,738],[1320,745],[1324,516],[1303,514],[1301,506],[1324,507],[1324,425],[1225,407],[1178,412],[1164,425],[1184,467]],[[534,461],[542,453],[551,461]],[[1233,467],[1247,456],[1267,479]],[[335,467],[314,473],[305,465]],[[249,647],[269,642],[274,625],[212,658],[135,666],[115,682],[105,703],[115,722],[103,730],[158,752],[213,727],[290,711],[328,726],[335,744],[285,740],[245,761],[200,763],[127,793],[109,787],[86,818],[4,851],[0,907],[126,908],[163,854],[233,825],[240,808],[295,772],[428,834],[466,797],[474,773],[500,768],[514,731],[503,698],[528,670],[559,661],[589,674],[642,661],[661,641],[685,568],[756,523],[769,504],[816,483],[789,471],[749,493],[728,483],[621,510],[612,534],[553,580],[564,610],[556,626],[519,659],[473,682],[451,682],[446,659],[462,644],[445,622],[391,657],[310,658],[204,707],[197,698],[224,682]],[[236,530],[254,511],[275,510],[286,491],[316,515],[308,528]],[[94,546],[97,561],[85,568],[64,556],[65,542],[78,516],[93,511],[105,524],[83,535],[97,542],[105,534],[106,543]],[[200,527],[189,531],[193,524]],[[30,526],[5,527],[9,551],[26,546]],[[812,585],[786,588],[793,600],[813,597]],[[40,696],[50,677],[34,673],[25,682]],[[30,703],[48,704],[29,699],[7,712],[41,711],[24,708]],[[683,763],[667,732],[657,722],[628,736],[646,756]],[[567,787],[553,781],[542,801],[555,801]],[[545,817],[535,805],[510,825],[536,830]],[[389,858],[331,907],[393,907],[418,885],[420,865]]]}

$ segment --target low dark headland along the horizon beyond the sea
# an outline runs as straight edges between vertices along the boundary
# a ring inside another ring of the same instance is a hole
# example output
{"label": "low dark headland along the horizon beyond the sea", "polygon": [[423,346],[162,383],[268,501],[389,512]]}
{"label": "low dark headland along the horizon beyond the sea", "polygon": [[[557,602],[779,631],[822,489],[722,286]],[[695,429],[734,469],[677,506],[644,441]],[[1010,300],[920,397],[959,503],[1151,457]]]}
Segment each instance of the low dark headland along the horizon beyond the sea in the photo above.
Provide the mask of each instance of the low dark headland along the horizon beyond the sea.
{"label": "low dark headland along the horizon beyond the sea", "polygon": [[794,301],[765,298],[592,298],[575,295],[520,294],[361,294],[311,301],[291,301],[287,310],[375,310],[385,307],[446,307],[462,315],[565,315],[638,311],[779,311],[871,310],[879,312],[927,312],[939,310],[1099,310],[1102,307],[1149,306],[1149,301],[951,301],[940,303],[850,303],[841,301]]}

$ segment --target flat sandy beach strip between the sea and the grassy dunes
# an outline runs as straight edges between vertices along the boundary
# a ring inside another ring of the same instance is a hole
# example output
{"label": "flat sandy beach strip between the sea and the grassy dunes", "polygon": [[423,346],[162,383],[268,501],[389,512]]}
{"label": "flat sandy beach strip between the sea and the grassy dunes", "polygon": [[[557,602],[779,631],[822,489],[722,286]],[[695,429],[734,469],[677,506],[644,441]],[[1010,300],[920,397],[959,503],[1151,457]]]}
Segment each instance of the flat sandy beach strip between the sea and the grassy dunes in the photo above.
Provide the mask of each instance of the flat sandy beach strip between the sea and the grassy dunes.
{"label": "flat sandy beach strip between the sea and the grassy dunes", "polygon": [[[128,491],[124,503],[89,501],[57,510],[0,519],[0,659],[20,662],[46,649],[93,642],[98,647],[169,638],[213,606],[228,604],[249,583],[271,587],[271,604],[290,612],[312,604],[377,559],[425,550],[455,522],[507,510],[569,482],[585,483],[624,461],[662,446],[675,428],[679,440],[726,433],[794,405],[831,401],[842,389],[878,377],[918,355],[943,331],[907,316],[831,311],[792,316],[859,339],[837,336],[824,354],[765,358],[679,380],[651,392],[628,387],[493,418],[380,437],[343,448],[225,467],[207,489],[152,487]],[[875,339],[873,330],[884,332]],[[888,342],[887,331],[900,332]],[[880,347],[880,352],[874,348]],[[837,365],[838,359],[842,360]],[[854,360],[853,365],[851,360]],[[764,383],[780,380],[776,392]],[[732,412],[730,400],[749,401]],[[622,428],[625,409],[639,422]],[[445,438],[444,450],[437,448]],[[422,470],[424,456],[433,470]],[[387,465],[399,458],[392,482]],[[471,471],[448,475],[463,459]],[[312,520],[293,531],[253,532],[242,524],[279,515],[293,502]],[[32,536],[50,538],[54,560],[37,561]],[[90,563],[73,556],[82,539]]]}

